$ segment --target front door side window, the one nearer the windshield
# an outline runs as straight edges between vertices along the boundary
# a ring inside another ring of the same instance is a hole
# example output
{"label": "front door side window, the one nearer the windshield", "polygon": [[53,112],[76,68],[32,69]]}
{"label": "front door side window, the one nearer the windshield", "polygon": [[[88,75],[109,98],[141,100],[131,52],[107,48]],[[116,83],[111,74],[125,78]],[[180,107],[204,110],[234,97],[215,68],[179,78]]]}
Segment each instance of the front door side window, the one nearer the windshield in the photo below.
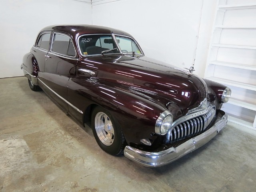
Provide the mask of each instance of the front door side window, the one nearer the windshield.
{"label": "front door side window, the one nearer the windshield", "polygon": [[76,51],[71,39],[62,34],[54,34],[51,51],[62,55],[76,56]]}

